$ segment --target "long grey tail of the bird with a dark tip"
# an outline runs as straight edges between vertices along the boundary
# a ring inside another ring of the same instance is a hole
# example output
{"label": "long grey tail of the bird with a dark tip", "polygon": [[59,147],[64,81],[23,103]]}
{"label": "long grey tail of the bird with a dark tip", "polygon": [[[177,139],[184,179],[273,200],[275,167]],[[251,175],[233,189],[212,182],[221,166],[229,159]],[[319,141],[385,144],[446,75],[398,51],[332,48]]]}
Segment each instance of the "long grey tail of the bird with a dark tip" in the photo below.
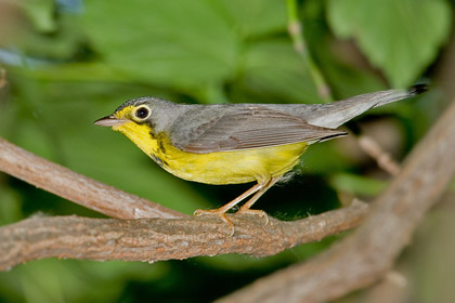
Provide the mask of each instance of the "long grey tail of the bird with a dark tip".
{"label": "long grey tail of the bird with a dark tip", "polygon": [[427,84],[417,84],[408,90],[388,90],[362,94],[329,104],[313,105],[312,108],[307,107],[299,116],[310,124],[336,129],[370,108],[421,94],[427,89]]}

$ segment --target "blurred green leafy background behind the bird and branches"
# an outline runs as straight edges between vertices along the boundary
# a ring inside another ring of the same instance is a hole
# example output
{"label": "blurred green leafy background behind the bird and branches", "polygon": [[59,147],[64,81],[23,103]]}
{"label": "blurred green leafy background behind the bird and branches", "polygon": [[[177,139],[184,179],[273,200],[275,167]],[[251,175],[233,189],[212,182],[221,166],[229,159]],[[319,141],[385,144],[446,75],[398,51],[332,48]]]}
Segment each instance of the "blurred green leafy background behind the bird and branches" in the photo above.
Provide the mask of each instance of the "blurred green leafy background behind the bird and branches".
{"label": "blurred green leafy background behind the bird and branches", "polygon": [[[335,98],[431,78],[431,69],[422,73],[447,42],[452,23],[444,0],[306,0],[298,8],[307,54]],[[287,26],[281,0],[0,0],[0,67],[8,80],[0,90],[0,136],[182,212],[222,205],[249,185],[179,180],[92,121],[141,95],[190,103],[321,103]],[[347,38],[352,40],[340,40]],[[396,132],[406,148],[398,157],[438,114],[426,100],[431,94],[369,115],[393,114],[400,122]],[[312,146],[300,173],[272,188],[258,207],[290,220],[337,207],[338,192],[373,197],[387,185],[368,174],[374,168],[337,141]],[[0,174],[1,225],[54,214],[99,215]],[[0,301],[206,302],[315,254],[332,240],[261,260],[35,261],[0,273]]]}

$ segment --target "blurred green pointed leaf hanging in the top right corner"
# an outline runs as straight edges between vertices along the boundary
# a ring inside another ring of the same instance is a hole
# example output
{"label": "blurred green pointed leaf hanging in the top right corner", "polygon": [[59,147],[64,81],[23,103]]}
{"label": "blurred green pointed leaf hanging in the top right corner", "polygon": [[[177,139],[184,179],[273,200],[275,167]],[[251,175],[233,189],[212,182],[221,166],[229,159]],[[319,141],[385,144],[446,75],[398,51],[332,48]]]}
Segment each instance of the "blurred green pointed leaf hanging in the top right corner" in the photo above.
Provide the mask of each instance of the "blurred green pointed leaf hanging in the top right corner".
{"label": "blurred green pointed leaf hanging in the top right corner", "polygon": [[335,34],[354,38],[394,87],[416,80],[451,29],[445,0],[329,0],[327,12]]}

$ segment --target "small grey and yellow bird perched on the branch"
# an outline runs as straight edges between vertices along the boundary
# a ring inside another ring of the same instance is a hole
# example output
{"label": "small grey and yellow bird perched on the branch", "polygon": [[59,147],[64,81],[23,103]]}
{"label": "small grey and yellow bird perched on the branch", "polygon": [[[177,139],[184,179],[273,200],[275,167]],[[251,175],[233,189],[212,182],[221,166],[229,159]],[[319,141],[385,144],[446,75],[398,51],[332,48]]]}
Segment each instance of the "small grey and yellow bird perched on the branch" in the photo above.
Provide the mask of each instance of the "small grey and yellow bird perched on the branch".
{"label": "small grey and yellow bird perched on the branch", "polygon": [[157,97],[132,98],[94,121],[130,139],[169,173],[206,184],[256,184],[224,206],[196,210],[219,215],[247,200],[237,213],[269,218],[252,205],[291,171],[309,145],[347,135],[337,129],[365,113],[427,91],[410,89],[365,93],[327,104],[178,104]]}

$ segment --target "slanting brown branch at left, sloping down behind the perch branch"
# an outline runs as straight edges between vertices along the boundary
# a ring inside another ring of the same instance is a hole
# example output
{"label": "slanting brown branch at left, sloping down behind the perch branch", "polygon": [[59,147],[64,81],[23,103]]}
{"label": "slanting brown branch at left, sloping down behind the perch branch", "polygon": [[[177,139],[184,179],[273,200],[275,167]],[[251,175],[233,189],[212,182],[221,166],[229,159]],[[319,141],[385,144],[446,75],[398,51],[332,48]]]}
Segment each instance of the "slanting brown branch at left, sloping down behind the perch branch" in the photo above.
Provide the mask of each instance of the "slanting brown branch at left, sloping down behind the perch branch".
{"label": "slanting brown branch at left, sloping down behind the perch branch", "polygon": [[113,218],[187,216],[50,162],[3,139],[0,139],[0,171]]}

